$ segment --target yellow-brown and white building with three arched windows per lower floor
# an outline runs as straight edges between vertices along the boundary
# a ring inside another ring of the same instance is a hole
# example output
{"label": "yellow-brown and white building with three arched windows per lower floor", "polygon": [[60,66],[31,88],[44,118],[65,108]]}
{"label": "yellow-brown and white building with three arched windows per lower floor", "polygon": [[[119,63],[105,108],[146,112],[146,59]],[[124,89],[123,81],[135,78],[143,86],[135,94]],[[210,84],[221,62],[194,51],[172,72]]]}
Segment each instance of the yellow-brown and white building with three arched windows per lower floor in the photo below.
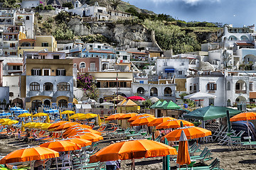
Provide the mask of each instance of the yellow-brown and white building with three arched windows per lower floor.
{"label": "yellow-brown and white building with three arched windows per lower floor", "polygon": [[26,108],[73,106],[73,60],[65,52],[24,52],[21,97]]}

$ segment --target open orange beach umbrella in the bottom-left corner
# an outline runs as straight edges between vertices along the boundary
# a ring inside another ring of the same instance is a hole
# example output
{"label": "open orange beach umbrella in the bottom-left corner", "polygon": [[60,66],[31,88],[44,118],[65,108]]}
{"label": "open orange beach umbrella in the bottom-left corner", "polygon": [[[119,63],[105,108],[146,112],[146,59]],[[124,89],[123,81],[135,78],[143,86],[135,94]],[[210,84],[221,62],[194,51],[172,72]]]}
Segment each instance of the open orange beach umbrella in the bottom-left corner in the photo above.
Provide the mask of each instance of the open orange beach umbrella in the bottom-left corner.
{"label": "open orange beach umbrella in the bottom-left corner", "polygon": [[6,157],[1,159],[0,164],[9,164],[14,162],[28,162],[33,160],[42,160],[59,157],[58,152],[46,147],[29,147],[25,149],[18,149]]}

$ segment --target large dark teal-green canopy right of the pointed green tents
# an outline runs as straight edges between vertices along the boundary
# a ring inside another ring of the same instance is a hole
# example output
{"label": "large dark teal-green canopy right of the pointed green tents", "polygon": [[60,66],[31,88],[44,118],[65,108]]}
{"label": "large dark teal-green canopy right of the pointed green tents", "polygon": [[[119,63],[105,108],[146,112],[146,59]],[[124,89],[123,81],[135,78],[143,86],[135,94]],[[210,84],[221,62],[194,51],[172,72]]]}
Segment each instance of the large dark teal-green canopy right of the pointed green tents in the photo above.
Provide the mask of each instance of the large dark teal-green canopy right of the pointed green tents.
{"label": "large dark teal-green canopy right of the pointed green tents", "polygon": [[232,108],[225,108],[220,106],[207,106],[205,108],[198,108],[195,111],[191,111],[191,113],[183,115],[183,118],[213,120],[217,118],[226,117],[226,111],[229,111],[230,116],[237,115],[238,113],[242,112]]}

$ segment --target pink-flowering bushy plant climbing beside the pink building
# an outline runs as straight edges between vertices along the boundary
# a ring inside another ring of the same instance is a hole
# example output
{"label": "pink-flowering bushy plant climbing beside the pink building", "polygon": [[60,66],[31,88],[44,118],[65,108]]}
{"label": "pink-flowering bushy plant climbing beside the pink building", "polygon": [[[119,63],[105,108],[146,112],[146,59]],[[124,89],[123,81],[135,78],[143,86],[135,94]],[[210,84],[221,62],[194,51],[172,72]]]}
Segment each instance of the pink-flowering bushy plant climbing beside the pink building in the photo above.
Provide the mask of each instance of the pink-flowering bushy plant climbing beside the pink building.
{"label": "pink-flowering bushy plant climbing beside the pink building", "polygon": [[92,98],[94,100],[97,100],[99,96],[99,90],[97,89],[97,86],[95,84],[95,78],[92,77],[90,74],[78,74],[78,88],[82,88],[82,91],[84,91],[85,95],[89,98]]}

